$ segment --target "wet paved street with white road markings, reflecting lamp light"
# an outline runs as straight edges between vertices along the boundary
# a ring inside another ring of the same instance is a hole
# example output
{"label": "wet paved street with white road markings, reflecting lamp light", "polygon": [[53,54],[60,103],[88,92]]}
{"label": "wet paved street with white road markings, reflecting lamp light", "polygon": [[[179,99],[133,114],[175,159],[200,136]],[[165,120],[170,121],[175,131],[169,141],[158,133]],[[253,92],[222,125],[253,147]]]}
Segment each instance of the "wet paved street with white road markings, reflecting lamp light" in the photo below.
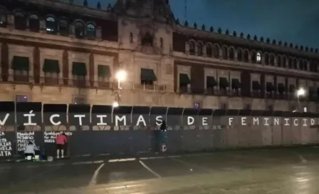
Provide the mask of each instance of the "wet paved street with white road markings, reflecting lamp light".
{"label": "wet paved street with white road markings, reflecting lamp light", "polygon": [[0,193],[319,193],[319,148],[0,164]]}

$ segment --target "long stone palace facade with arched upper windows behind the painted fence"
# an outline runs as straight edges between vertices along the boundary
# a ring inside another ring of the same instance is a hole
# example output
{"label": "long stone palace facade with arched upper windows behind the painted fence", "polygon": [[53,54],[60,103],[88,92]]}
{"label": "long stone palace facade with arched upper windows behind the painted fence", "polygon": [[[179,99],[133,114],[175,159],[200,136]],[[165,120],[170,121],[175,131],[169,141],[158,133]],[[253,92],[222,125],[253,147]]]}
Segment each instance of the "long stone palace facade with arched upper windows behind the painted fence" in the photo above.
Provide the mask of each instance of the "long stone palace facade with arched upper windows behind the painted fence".
{"label": "long stone palace facade with arched upper windows behind the painted fence", "polygon": [[[0,101],[318,110],[318,49],[179,24],[169,1],[0,2]],[[296,98],[296,90],[306,95]]]}

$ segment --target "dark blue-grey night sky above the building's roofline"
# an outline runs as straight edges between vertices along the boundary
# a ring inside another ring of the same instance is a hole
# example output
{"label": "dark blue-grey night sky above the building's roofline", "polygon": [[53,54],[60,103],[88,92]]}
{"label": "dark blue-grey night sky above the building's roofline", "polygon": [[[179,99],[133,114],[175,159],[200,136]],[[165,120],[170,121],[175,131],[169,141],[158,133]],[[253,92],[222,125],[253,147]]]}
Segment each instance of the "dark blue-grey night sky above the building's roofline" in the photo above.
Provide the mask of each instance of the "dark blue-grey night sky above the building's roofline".
{"label": "dark blue-grey night sky above the building's roofline", "polygon": [[[82,4],[83,0],[75,0]],[[88,0],[89,6],[97,2],[106,8],[116,0]],[[293,44],[318,48],[318,0],[186,0],[187,20],[197,26],[244,32],[264,39],[276,39]],[[175,17],[185,20],[185,0],[170,0]]]}

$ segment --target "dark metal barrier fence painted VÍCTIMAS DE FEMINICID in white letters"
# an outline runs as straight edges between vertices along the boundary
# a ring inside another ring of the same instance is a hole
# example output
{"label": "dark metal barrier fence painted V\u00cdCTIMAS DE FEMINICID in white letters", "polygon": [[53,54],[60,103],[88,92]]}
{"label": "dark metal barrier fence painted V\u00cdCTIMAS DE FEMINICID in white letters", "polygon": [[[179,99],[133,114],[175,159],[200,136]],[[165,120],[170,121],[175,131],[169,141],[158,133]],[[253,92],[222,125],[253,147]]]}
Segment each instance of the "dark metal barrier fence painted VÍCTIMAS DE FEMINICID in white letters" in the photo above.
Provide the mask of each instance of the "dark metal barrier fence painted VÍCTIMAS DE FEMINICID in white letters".
{"label": "dark metal barrier fence painted V\u00cdCTIMAS DE FEMINICID in white letters", "polygon": [[62,131],[69,155],[152,152],[162,121],[171,152],[318,143],[315,113],[0,102],[0,157],[28,141],[54,155]]}

